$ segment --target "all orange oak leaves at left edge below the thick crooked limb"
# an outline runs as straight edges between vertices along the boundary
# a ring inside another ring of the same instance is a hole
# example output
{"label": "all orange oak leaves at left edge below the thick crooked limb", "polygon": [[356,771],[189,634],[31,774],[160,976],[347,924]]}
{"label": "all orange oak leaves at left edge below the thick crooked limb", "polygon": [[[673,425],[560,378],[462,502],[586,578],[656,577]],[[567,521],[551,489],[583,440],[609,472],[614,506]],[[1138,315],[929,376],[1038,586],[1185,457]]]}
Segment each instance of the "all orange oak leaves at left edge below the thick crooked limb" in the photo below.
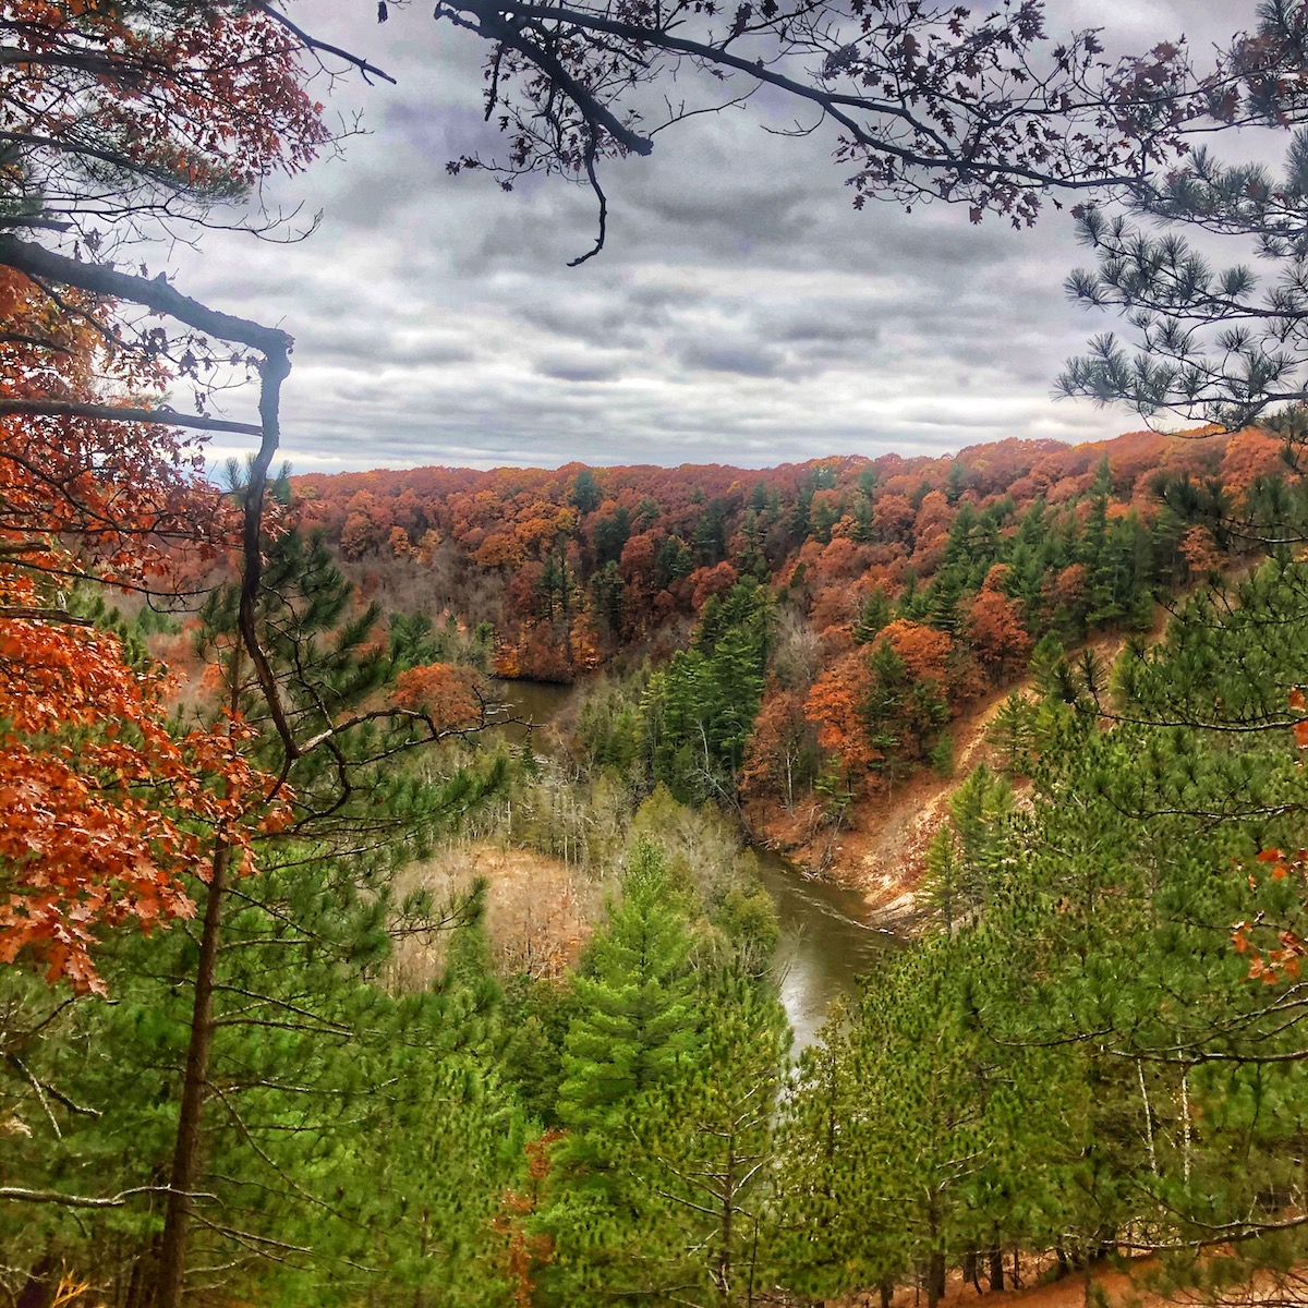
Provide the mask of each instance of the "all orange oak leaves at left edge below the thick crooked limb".
{"label": "all orange oak leaves at left edge below the thick crooked limb", "polygon": [[[0,399],[95,402],[156,388],[107,309],[51,305],[0,269]],[[88,587],[169,591],[229,521],[194,445],[162,428],[0,417],[0,961],[29,948],[97,988],[105,926],[188,914],[213,840],[249,841],[262,778],[239,723],[179,735],[162,670],[82,616]]]}

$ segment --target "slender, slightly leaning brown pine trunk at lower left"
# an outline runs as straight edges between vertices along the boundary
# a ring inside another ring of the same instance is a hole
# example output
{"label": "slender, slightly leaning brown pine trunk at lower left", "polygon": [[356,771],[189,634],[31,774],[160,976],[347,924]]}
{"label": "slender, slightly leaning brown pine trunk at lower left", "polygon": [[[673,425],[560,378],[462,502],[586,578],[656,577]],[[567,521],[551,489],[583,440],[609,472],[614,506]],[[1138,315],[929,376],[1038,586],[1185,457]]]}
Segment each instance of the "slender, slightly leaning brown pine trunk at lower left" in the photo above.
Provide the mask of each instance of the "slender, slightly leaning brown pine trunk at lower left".
{"label": "slender, slightly leaning brown pine trunk at lower left", "polygon": [[167,1211],[160,1239],[160,1264],[154,1287],[154,1308],[181,1308],[186,1279],[186,1244],[191,1227],[191,1194],[200,1164],[200,1120],[204,1091],[209,1079],[209,1045],[213,1039],[213,981],[218,960],[222,925],[222,897],[226,889],[230,846],[221,837],[213,850],[213,871],[204,903],[204,934],[195,973],[195,1002],[191,1008],[191,1044],[186,1052],[182,1080],[182,1109],[177,1122],[173,1173],[169,1179]]}

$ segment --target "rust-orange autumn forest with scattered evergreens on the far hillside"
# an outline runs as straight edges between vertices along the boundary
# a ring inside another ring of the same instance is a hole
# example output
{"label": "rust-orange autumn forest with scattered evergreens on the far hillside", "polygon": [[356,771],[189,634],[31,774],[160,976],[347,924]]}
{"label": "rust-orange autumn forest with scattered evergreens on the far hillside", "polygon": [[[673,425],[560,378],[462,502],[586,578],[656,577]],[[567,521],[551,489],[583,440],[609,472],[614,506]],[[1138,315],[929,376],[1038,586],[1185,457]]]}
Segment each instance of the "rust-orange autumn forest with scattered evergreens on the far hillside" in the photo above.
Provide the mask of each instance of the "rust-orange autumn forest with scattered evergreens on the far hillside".
{"label": "rust-orange autumn forest with scattered evergreens on the far hillside", "polygon": [[1202,578],[1228,548],[1160,488],[1227,484],[1239,505],[1281,466],[1258,433],[1138,432],[761,472],[309,475],[294,513],[415,608],[490,624],[509,678],[659,666],[710,606],[765,585],[816,661],[770,680],[734,783],[791,807],[832,769],[857,790],[925,763],[952,717],[1024,674],[1044,633],[1074,645],[1147,625],[1154,587]]}

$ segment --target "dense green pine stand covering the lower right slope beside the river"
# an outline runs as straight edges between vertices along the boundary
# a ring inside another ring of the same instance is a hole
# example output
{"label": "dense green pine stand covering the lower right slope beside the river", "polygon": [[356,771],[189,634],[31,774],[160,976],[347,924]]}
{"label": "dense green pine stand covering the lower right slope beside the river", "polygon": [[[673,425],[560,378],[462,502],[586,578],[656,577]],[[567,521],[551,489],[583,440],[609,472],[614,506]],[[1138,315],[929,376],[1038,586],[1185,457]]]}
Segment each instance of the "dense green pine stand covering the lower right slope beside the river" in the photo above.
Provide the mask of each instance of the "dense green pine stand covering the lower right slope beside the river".
{"label": "dense green pine stand covering the lower right slope beside the river", "polygon": [[1304,927],[1298,865],[1257,857],[1301,841],[1303,585],[1269,562],[1110,679],[1087,664],[1075,704],[1040,710],[1020,807],[984,769],[956,793],[921,892],[942,930],[869,982],[785,1105],[789,1286],[931,1301],[1003,1250],[1090,1275],[1164,1248],[1160,1283],[1218,1292],[1308,1258],[1298,961],[1250,968],[1250,942]]}

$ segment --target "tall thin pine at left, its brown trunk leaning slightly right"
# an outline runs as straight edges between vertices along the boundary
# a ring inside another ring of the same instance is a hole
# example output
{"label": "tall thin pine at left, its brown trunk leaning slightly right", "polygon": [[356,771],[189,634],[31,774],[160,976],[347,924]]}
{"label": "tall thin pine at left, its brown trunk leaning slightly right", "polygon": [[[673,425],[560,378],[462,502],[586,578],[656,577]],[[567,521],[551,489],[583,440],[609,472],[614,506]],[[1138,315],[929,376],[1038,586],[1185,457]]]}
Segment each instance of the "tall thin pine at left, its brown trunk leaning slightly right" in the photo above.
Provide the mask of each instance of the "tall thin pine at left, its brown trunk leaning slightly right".
{"label": "tall thin pine at left, its brown trunk leaning slightly right", "polygon": [[[129,1164],[136,1180],[123,1188],[162,1196],[146,1219],[148,1230],[162,1216],[162,1232],[146,1239],[137,1223],[133,1239],[120,1245],[116,1275],[128,1298],[153,1292],[175,1301],[192,1243],[213,1265],[276,1239],[271,1228],[294,1219],[275,1214],[264,1202],[269,1197],[322,1202],[314,1185],[330,1168],[302,1148],[311,1139],[307,1126],[279,1122],[296,1112],[279,1096],[298,1086],[313,1103],[322,1074],[324,1101],[349,1103],[341,1087],[351,1084],[353,1093],[357,1082],[323,1041],[349,1040],[385,1008],[369,969],[392,931],[432,937],[463,916],[463,908],[421,893],[398,901],[388,875],[500,781],[494,769],[441,780],[396,766],[405,749],[437,734],[430,717],[400,713],[388,721],[385,712],[362,712],[344,725],[387,681],[391,666],[370,641],[375,607],[354,607],[320,540],[290,531],[267,547],[252,619],[266,661],[258,676],[237,637],[239,606],[238,586],[213,593],[201,613],[200,647],[222,676],[221,708],[241,713],[254,730],[239,747],[281,778],[285,824],[260,840],[254,876],[242,876],[232,846],[218,841],[209,879],[195,892],[203,905],[198,942],[179,926],[166,938],[170,948],[152,947],[154,961],[124,946],[116,980],[135,999],[136,1025],[122,1025],[116,1012],[95,1018],[82,1008],[88,1022],[109,1028],[110,1048],[126,1041],[128,1061],[146,1078],[148,1127]],[[276,709],[266,693],[269,678]],[[275,713],[297,738],[323,735],[330,747],[288,756]],[[152,989],[161,976],[162,993]],[[152,1016],[140,1016],[152,1008]],[[137,1044],[143,1032],[145,1048]],[[105,1112],[105,1129],[135,1131],[143,1099],[127,1100],[120,1112],[95,1110]],[[323,1133],[319,1152],[335,1156],[332,1125]],[[93,1150],[98,1134],[86,1137]],[[78,1148],[69,1141],[60,1154],[76,1158]],[[221,1202],[242,1196],[246,1224],[203,1213],[207,1201],[196,1196],[208,1193],[208,1176]],[[297,1261],[313,1257],[309,1247],[297,1250]]]}

